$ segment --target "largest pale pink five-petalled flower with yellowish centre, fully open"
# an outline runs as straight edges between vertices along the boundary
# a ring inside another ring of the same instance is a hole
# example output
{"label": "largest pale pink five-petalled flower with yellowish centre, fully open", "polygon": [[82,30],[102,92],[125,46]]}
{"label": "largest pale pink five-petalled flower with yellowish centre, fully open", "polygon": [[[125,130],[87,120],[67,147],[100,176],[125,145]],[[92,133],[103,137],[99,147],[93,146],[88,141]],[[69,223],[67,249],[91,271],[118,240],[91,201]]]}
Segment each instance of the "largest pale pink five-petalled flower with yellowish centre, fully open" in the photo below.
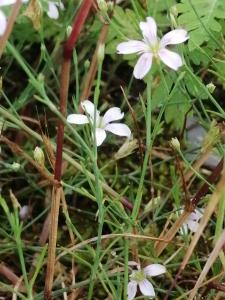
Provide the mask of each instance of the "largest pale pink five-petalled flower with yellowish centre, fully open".
{"label": "largest pale pink five-petalled flower with yellowish centre, fully open", "polygon": [[147,22],[140,22],[143,40],[129,40],[117,46],[119,54],[137,53],[140,55],[135,67],[134,77],[142,79],[151,69],[153,58],[160,59],[164,64],[173,70],[182,66],[182,59],[179,54],[166,48],[168,45],[176,45],[188,39],[187,31],[175,29],[165,34],[162,39],[157,37],[157,25],[152,17]]}

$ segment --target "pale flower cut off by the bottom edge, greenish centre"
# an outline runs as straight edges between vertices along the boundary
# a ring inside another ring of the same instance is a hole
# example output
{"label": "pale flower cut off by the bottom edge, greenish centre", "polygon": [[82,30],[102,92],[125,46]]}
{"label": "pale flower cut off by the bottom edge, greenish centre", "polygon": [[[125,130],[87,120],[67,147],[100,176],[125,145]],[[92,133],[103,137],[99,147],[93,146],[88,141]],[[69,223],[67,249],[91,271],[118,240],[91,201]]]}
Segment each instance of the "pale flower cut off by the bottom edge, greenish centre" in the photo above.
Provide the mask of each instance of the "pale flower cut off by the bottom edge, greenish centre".
{"label": "pale flower cut off by the bottom edge, greenish centre", "polygon": [[166,268],[160,264],[148,265],[144,269],[141,269],[140,265],[137,264],[136,271],[133,271],[130,275],[130,282],[127,286],[127,297],[128,300],[133,300],[137,293],[137,287],[144,296],[155,297],[154,287],[147,277],[154,277],[166,273]]}

